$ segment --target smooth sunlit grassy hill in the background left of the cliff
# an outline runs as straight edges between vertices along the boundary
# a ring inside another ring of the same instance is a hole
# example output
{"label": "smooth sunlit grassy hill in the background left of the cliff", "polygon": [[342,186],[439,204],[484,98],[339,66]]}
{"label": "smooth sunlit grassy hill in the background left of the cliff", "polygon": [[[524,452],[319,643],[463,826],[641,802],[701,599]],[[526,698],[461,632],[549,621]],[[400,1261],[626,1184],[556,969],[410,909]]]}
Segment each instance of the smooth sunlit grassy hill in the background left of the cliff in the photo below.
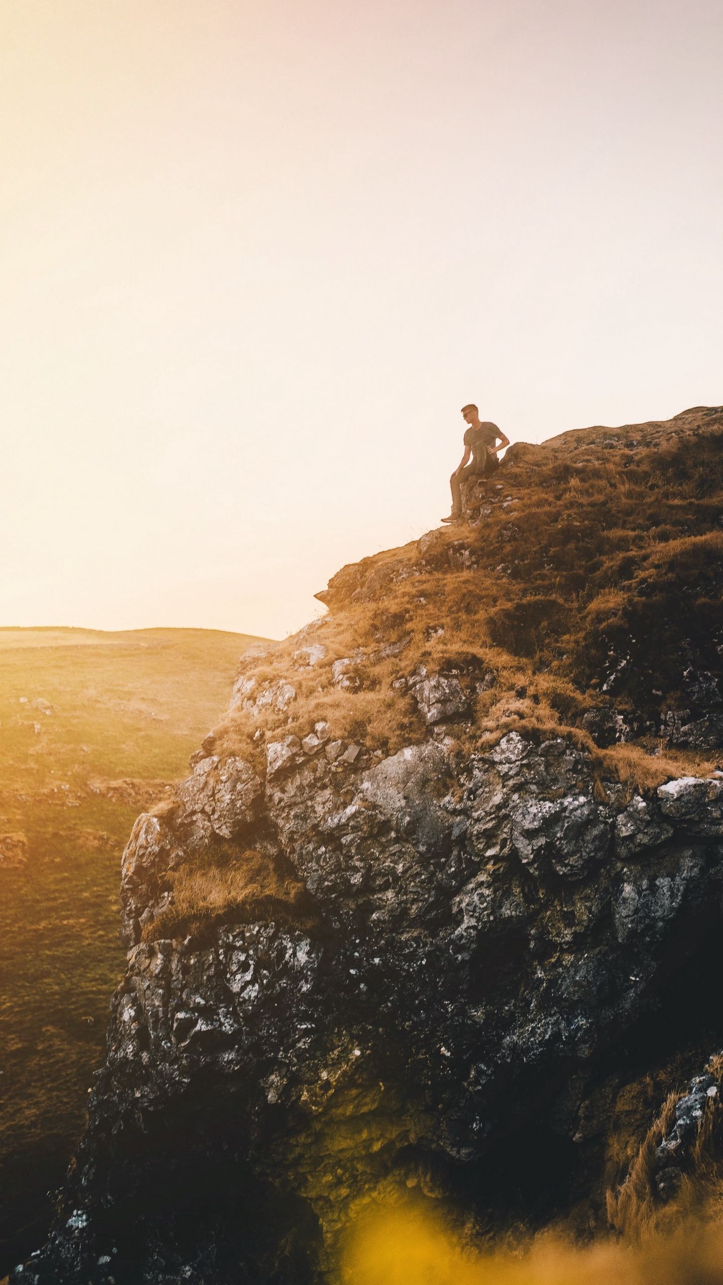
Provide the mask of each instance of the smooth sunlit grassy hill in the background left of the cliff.
{"label": "smooth sunlit grassy hill in the background left of the cliff", "polygon": [[39,1240],[122,971],[120,858],[255,641],[0,628],[0,1275]]}

